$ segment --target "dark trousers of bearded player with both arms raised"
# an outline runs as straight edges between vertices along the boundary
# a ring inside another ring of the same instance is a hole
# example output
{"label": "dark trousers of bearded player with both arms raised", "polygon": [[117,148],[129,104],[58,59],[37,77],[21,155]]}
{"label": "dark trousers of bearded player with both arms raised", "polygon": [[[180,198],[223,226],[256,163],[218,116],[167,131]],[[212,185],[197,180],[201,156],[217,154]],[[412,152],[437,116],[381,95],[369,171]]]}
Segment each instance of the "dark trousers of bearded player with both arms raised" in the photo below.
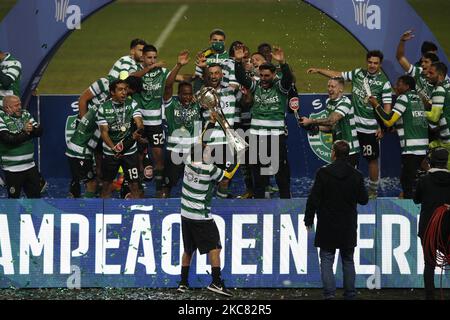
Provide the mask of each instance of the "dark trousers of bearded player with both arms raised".
{"label": "dark trousers of bearded player with both arms raised", "polygon": [[[270,173],[262,174],[261,170],[267,170],[271,166],[271,163],[265,163],[268,159],[272,159],[273,161],[278,162],[278,171],[272,172],[275,174],[275,180],[278,185],[278,189],[280,190],[280,198],[281,199],[290,199],[291,198],[291,173],[289,169],[289,163],[287,159],[287,147],[286,147],[286,136],[256,136],[251,140],[254,144],[256,144],[256,152],[257,152],[257,163],[252,165],[253,179],[254,179],[254,197],[255,199],[264,199],[264,194],[266,191],[266,187],[270,182]],[[278,144],[278,148],[274,149],[274,153],[272,154],[272,145],[276,147]],[[255,147],[255,146],[254,146]],[[253,150],[255,148],[253,147]],[[252,149],[250,152],[254,152]],[[250,155],[250,159],[252,155]],[[275,159],[275,160],[274,160]],[[275,169],[275,168],[274,168]],[[264,173],[264,172],[263,172]]]}

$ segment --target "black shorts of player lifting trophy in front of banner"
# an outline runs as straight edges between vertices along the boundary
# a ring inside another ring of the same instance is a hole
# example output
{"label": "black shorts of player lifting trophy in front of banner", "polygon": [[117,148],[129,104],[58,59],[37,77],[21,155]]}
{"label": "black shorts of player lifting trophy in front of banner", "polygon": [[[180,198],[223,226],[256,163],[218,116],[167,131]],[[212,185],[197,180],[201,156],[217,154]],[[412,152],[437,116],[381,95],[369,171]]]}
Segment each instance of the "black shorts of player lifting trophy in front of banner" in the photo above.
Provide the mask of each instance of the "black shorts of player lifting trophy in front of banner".
{"label": "black shorts of player lifting trophy in front of banner", "polygon": [[181,217],[184,252],[192,255],[198,249],[205,254],[214,249],[222,249],[219,229],[214,219],[193,220]]}

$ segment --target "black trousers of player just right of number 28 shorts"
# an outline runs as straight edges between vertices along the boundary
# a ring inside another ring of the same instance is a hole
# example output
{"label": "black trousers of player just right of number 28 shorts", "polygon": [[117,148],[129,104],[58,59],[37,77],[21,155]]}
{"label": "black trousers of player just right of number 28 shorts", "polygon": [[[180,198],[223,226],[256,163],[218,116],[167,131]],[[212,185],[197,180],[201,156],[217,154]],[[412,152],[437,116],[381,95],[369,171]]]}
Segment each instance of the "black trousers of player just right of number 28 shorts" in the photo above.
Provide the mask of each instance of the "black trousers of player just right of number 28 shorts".
{"label": "black trousers of player just right of number 28 shorts", "polygon": [[412,199],[417,186],[417,170],[420,169],[425,155],[402,154],[400,184],[403,198]]}

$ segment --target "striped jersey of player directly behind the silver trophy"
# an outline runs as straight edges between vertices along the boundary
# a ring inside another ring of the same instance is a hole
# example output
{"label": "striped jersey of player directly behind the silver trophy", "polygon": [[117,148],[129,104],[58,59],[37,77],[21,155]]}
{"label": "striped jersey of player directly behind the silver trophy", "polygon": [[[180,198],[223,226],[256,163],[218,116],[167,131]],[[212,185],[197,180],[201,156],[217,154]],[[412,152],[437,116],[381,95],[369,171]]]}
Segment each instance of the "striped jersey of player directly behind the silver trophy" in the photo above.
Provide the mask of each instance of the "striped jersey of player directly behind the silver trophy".
{"label": "striped jersey of player directly behind the silver trophy", "polygon": [[[220,99],[220,108],[222,109],[223,115],[225,116],[225,119],[230,124],[230,127],[233,128],[234,126],[234,117],[236,113],[236,93],[237,90],[233,87],[219,87],[217,89],[217,93],[219,94]],[[203,111],[203,118],[209,119],[210,111],[204,110]],[[216,145],[216,144],[226,144],[227,138],[225,136],[225,132],[223,131],[222,127],[220,126],[219,122],[216,121],[216,124],[214,128],[211,130],[211,132],[207,135],[205,135],[206,140],[204,141],[206,144],[209,145]]]}

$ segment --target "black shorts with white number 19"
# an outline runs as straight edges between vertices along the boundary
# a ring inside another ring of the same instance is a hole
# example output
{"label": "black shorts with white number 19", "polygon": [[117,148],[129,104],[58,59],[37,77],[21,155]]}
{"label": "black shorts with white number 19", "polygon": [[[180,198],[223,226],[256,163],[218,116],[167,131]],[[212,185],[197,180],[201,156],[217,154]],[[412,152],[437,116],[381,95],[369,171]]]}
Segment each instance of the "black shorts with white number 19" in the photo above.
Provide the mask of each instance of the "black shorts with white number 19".
{"label": "black shorts with white number 19", "polygon": [[102,159],[103,180],[112,182],[116,178],[120,166],[122,166],[125,180],[129,182],[139,181],[139,159],[137,152],[124,155],[120,158],[104,154]]}

